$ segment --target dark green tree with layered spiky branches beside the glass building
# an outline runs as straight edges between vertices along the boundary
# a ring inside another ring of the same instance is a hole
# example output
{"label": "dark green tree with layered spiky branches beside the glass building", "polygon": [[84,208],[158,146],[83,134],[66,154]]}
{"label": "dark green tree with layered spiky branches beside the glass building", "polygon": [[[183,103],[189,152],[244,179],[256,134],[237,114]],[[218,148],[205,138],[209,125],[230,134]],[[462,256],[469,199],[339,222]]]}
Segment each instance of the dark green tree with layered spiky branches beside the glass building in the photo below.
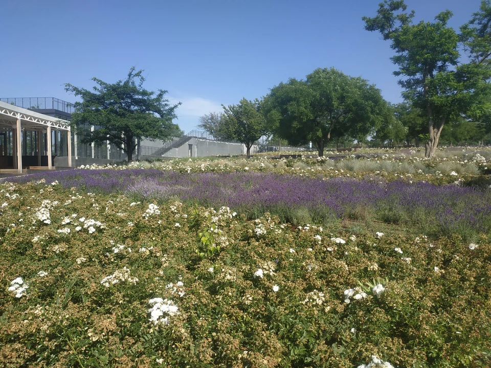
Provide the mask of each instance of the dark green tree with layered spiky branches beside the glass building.
{"label": "dark green tree with layered spiky branches beside the glass building", "polygon": [[[98,84],[94,92],[65,84],[66,91],[82,100],[74,104],[72,126],[81,134],[83,143],[109,141],[123,147],[128,161],[132,161],[136,140],[166,140],[180,133],[172,119],[176,118],[174,111],[181,103],[170,105],[164,98],[166,90],[159,89],[155,94],[144,89],[142,73],[143,70],[135,72],[135,67],[131,67],[126,80],[113,84],[93,78]],[[96,129],[87,131],[86,124]]]}

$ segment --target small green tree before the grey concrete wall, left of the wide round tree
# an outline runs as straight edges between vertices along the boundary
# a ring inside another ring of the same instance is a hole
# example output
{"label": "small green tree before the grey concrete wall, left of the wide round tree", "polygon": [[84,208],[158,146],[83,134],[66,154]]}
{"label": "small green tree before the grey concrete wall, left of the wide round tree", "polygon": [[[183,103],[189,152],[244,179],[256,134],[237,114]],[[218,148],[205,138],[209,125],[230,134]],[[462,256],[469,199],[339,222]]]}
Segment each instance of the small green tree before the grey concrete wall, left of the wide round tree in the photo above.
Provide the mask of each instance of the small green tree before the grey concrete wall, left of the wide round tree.
{"label": "small green tree before the grey concrete wall, left of the wide round tree", "polygon": [[243,143],[247,148],[247,155],[250,156],[252,145],[268,132],[261,102],[258,99],[248,101],[242,98],[238,105],[221,106],[224,108],[224,113],[219,134],[224,139]]}

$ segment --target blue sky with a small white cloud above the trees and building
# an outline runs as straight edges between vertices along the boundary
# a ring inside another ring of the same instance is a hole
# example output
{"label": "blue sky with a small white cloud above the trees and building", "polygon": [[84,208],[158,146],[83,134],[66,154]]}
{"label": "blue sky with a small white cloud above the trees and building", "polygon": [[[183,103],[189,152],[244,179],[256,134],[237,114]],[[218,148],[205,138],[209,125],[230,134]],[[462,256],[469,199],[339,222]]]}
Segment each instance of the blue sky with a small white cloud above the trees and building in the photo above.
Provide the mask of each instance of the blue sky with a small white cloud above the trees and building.
{"label": "blue sky with a small white cloud above the trees and building", "polygon": [[[124,79],[132,65],[144,86],[181,101],[181,129],[242,97],[260,98],[318,67],[362,76],[400,102],[390,42],[363,29],[381,0],[3,1],[0,97],[56,97],[63,84]],[[480,0],[406,0],[415,20],[454,12],[458,27]]]}

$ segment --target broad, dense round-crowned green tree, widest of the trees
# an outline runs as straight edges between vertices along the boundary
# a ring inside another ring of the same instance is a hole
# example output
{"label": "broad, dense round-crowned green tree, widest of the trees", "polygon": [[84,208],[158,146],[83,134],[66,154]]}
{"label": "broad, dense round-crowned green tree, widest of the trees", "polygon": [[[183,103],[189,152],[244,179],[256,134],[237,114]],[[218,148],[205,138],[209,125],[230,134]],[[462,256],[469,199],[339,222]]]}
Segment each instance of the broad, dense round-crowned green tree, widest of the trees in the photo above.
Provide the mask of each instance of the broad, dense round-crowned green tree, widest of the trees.
{"label": "broad, dense round-crowned green tree, widest of the trees", "polygon": [[265,106],[278,136],[293,145],[313,142],[319,156],[331,140],[364,140],[389,116],[380,90],[334,68],[280,83],[267,95]]}

